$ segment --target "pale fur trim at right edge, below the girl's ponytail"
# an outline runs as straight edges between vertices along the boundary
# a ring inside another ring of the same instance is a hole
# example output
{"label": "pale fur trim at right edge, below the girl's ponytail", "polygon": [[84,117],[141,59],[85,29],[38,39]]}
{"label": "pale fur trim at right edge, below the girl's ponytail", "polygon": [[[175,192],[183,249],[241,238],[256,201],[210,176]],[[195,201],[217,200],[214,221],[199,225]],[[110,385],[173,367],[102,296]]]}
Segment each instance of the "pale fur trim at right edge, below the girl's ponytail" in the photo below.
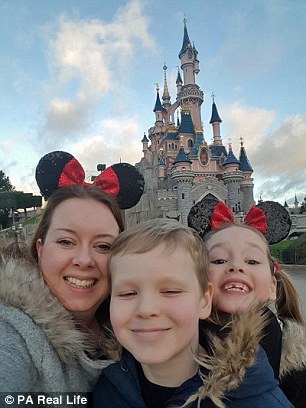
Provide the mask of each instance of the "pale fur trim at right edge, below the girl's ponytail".
{"label": "pale fur trim at right edge, below the girl's ponytail", "polygon": [[306,327],[292,320],[284,320],[280,378],[291,371],[306,367]]}

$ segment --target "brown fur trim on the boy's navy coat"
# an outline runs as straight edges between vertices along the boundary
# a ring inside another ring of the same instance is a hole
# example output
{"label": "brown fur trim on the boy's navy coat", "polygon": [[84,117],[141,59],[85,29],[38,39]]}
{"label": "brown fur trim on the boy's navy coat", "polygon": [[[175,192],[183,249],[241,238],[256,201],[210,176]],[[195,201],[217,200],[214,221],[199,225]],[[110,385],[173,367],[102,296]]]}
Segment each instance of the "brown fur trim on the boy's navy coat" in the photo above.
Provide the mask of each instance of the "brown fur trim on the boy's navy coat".
{"label": "brown fur trim on the boy's navy coat", "polygon": [[264,310],[256,307],[234,315],[224,327],[229,331],[225,338],[211,336],[213,354],[197,358],[200,367],[208,369],[209,373],[200,374],[203,385],[197,394],[189,398],[186,406],[197,399],[200,406],[202,399],[210,398],[217,407],[225,407],[222,398],[238,388],[246,369],[255,363],[265,324]]}

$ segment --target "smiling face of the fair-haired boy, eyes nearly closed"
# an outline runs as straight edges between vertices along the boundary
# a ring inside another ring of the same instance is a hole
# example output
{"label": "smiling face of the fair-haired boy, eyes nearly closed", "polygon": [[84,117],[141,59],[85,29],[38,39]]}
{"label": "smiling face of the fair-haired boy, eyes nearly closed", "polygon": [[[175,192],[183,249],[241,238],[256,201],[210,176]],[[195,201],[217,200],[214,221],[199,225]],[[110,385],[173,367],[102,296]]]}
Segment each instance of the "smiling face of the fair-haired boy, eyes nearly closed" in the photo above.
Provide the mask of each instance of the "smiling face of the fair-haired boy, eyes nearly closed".
{"label": "smiling face of the fair-haired boy, eyes nearly closed", "polygon": [[116,255],[111,280],[114,332],[144,372],[194,364],[198,322],[210,314],[212,289],[202,293],[186,249],[162,244],[144,254]]}

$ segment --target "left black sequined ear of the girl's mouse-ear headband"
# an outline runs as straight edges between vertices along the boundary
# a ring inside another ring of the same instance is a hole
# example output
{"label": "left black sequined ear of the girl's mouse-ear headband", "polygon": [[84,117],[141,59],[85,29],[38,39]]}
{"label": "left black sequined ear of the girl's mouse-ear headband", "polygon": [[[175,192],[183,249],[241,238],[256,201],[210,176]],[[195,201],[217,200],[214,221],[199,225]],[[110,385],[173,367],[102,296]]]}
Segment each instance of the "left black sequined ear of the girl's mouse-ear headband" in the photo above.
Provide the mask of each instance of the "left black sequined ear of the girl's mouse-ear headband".
{"label": "left black sequined ear of the girl's mouse-ear headband", "polygon": [[202,239],[211,231],[212,214],[218,202],[213,196],[204,197],[202,201],[191,207],[189,211],[188,226],[195,229]]}

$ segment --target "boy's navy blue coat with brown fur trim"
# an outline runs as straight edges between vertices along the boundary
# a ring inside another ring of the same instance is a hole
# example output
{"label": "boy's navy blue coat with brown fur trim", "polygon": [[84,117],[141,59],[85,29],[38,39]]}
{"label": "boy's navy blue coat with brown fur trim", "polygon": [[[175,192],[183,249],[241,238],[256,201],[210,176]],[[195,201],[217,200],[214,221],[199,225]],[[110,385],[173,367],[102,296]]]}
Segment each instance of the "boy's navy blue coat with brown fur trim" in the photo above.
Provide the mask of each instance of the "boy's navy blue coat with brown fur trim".
{"label": "boy's navy blue coat with brown fur trim", "polygon": [[[201,407],[284,408],[292,407],[278,387],[264,350],[259,347],[263,319],[251,313],[237,317],[230,334],[220,341],[214,337],[215,353],[201,367],[203,379],[196,375],[184,382],[165,407],[182,406],[201,390]],[[208,369],[209,367],[209,369]],[[198,400],[188,408],[197,407]],[[94,408],[147,408],[137,374],[137,365],[129,353],[122,361],[107,367],[93,392]]]}

